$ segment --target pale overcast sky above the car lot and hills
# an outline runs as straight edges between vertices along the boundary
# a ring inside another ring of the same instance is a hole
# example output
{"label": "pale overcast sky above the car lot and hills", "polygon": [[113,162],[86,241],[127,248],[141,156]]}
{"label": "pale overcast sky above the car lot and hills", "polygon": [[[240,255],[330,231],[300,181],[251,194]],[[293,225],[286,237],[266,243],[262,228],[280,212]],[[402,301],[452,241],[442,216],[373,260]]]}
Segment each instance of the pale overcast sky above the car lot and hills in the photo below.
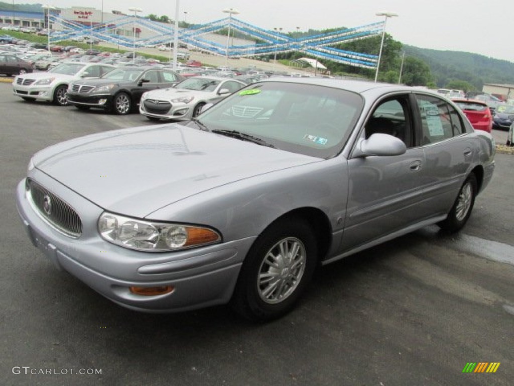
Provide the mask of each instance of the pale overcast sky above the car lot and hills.
{"label": "pale overcast sky above the car lot and hills", "polygon": [[[5,0],[7,1],[7,0]],[[207,23],[227,16],[222,11],[235,8],[237,19],[266,29],[358,27],[383,17],[390,11],[386,31],[403,44],[421,48],[474,52],[514,62],[508,45],[514,19],[514,0],[178,0],[180,21]],[[29,3],[16,0],[15,3]],[[167,15],[175,19],[175,0],[48,0],[48,4],[70,8],[87,4],[129,13],[138,7],[143,15]],[[187,12],[185,14],[184,12]]]}

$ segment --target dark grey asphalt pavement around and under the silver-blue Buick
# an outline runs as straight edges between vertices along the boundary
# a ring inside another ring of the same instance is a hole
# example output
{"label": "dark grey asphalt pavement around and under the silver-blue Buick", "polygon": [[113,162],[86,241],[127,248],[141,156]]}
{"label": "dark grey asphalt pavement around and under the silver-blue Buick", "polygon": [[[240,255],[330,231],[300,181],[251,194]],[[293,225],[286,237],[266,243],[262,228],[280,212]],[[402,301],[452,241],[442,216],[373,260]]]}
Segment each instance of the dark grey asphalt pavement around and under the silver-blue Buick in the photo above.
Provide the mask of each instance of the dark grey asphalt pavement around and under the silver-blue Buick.
{"label": "dark grey asphalt pavement around and under the silver-blue Buick", "polygon": [[[514,156],[458,235],[430,226],[321,268],[298,307],[252,324],[228,307],[121,308],[35,249],[14,189],[52,144],[154,125],[29,103],[0,83],[0,385],[511,385]],[[70,165],[70,167],[73,167]],[[468,363],[495,373],[463,373]]]}

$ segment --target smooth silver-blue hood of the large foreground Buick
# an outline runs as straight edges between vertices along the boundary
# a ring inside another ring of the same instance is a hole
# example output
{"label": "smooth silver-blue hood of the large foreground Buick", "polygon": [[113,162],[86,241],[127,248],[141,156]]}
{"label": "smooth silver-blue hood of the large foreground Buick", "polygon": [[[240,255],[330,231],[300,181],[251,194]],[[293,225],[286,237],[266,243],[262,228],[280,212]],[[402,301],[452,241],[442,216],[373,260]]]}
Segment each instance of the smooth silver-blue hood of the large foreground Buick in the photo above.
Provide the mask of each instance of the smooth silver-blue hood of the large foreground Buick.
{"label": "smooth silver-blue hood of the large foreground Buick", "polygon": [[72,139],[32,159],[98,206],[139,218],[218,186],[319,161],[178,124]]}

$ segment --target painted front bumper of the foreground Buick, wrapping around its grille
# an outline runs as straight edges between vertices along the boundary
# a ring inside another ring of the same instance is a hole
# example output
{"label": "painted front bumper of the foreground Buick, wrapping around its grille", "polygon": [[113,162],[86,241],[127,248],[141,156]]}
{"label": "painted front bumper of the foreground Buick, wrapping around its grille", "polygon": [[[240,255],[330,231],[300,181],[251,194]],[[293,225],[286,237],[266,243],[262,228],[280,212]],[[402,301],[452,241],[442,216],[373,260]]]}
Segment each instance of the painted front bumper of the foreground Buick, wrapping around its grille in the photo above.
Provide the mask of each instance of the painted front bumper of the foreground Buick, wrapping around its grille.
{"label": "painted front bumper of the foreground Buick, wrapping around its grille", "polygon": [[[83,231],[71,238],[50,226],[26,196],[25,180],[16,204],[31,242],[53,264],[113,302],[145,312],[175,312],[230,300],[244,256],[254,238],[173,253],[144,253],[103,240],[96,230],[103,209],[40,172],[38,183],[56,192],[80,215]],[[171,293],[144,296],[131,286],[173,286]]]}

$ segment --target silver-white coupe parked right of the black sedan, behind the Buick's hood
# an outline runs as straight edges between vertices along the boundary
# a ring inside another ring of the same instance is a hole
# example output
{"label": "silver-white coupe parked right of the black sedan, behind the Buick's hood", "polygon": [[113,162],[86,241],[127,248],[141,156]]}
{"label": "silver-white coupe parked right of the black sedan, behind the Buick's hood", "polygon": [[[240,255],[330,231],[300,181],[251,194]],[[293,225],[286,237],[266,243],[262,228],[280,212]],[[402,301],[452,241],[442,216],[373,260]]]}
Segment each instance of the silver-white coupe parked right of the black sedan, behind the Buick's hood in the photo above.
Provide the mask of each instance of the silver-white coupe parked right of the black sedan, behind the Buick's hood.
{"label": "silver-white coupe parked right of the black sedan, behind the Buick's hood", "polygon": [[139,112],[150,120],[187,120],[196,117],[207,103],[216,103],[244,86],[238,80],[195,76],[175,87],[144,93]]}

